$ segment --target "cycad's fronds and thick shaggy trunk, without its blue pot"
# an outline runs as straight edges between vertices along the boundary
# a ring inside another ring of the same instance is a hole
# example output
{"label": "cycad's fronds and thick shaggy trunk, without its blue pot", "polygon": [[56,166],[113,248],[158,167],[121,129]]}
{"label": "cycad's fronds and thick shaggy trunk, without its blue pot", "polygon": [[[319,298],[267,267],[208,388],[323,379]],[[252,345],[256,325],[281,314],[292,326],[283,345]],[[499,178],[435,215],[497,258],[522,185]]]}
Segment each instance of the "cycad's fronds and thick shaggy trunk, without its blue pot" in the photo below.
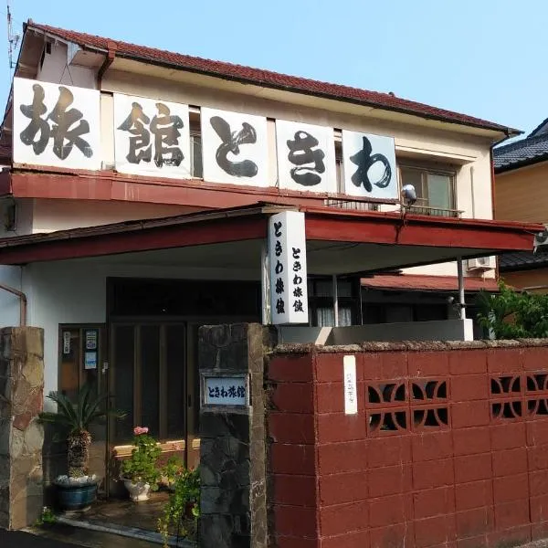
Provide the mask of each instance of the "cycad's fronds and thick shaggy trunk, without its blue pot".
{"label": "cycad's fronds and thick shaggy trunk, without its blue pot", "polygon": [[108,409],[108,396],[95,396],[93,385],[83,385],[76,402],[71,402],[67,395],[59,392],[50,392],[47,397],[57,404],[58,410],[57,413],[40,413],[40,420],[68,429],[68,476],[70,478],[86,476],[90,462],[90,426],[99,424],[108,416],[122,418],[125,414]]}

